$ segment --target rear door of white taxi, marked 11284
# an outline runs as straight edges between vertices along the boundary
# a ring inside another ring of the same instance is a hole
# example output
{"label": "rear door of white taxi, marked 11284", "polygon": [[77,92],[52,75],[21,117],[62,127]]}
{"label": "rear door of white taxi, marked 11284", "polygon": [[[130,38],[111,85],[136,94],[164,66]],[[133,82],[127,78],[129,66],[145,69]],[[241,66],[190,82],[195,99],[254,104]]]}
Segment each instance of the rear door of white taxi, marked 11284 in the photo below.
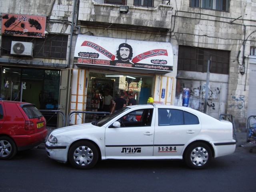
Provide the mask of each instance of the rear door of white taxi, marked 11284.
{"label": "rear door of white taxi, marked 11284", "polygon": [[154,156],[180,156],[184,145],[198,135],[198,117],[183,110],[158,108],[155,125]]}

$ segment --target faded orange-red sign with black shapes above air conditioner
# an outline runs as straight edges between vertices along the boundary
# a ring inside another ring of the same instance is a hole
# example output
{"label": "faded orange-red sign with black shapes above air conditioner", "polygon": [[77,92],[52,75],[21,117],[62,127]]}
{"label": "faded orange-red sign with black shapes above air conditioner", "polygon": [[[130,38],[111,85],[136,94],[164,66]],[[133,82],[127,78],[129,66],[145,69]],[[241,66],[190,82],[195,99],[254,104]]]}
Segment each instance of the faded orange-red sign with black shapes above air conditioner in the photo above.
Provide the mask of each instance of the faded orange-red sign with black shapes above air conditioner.
{"label": "faded orange-red sign with black shapes above air conditioner", "polygon": [[42,38],[45,27],[46,16],[2,14],[2,35]]}

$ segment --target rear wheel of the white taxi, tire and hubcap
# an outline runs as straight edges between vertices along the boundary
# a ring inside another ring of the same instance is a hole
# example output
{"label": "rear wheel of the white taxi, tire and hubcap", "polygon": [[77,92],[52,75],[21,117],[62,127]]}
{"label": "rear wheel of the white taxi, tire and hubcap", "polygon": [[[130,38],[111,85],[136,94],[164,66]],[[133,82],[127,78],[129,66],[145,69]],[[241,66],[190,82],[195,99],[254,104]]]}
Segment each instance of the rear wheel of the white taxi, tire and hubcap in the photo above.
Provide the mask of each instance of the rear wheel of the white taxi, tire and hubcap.
{"label": "rear wheel of the white taxi, tire and hubcap", "polygon": [[203,142],[188,146],[185,152],[185,162],[192,169],[204,169],[212,161],[212,150]]}

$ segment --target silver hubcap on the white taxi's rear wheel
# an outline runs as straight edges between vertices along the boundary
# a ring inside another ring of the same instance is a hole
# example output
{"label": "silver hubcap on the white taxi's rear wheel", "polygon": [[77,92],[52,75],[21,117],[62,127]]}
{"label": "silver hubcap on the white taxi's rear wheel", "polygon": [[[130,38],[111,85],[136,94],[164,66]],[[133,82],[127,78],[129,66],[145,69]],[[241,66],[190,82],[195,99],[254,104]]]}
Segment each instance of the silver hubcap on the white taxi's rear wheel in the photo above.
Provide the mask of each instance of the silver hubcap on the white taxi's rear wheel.
{"label": "silver hubcap on the white taxi's rear wheel", "polygon": [[208,161],[208,152],[203,147],[197,147],[192,150],[190,158],[194,165],[202,166]]}

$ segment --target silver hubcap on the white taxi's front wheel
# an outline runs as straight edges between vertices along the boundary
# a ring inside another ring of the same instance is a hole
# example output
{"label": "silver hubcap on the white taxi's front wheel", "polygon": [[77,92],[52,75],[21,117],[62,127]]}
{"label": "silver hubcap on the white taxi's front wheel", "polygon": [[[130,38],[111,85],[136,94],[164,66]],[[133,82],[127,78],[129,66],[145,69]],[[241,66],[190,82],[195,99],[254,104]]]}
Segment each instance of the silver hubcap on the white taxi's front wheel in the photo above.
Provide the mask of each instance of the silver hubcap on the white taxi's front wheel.
{"label": "silver hubcap on the white taxi's front wheel", "polygon": [[92,162],[93,152],[87,146],[80,146],[74,151],[73,158],[78,165],[85,166]]}

